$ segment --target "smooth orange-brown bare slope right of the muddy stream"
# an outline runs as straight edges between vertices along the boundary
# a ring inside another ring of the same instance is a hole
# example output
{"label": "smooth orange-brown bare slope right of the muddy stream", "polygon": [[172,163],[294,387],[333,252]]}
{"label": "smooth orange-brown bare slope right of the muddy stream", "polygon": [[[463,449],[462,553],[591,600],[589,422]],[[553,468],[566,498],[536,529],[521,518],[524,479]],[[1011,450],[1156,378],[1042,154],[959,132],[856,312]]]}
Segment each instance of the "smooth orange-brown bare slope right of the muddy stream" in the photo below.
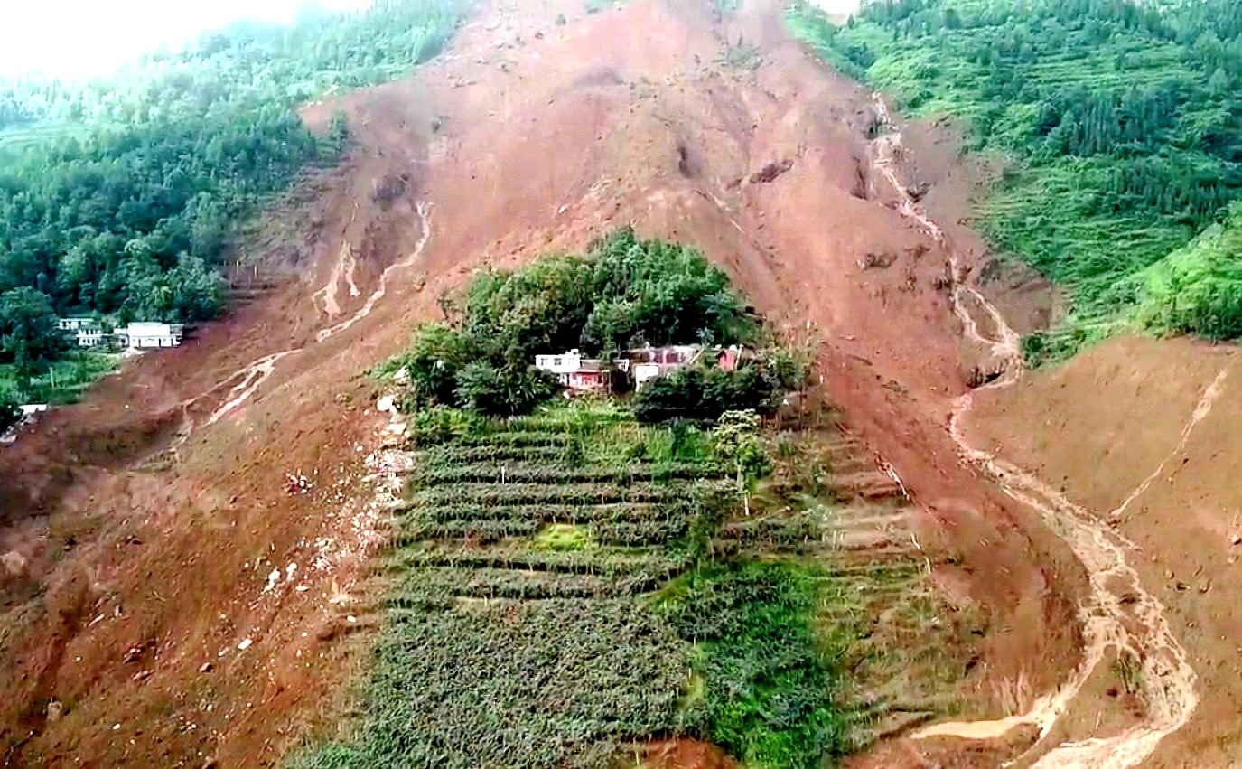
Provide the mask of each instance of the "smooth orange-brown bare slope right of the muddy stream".
{"label": "smooth orange-brown bare slope right of the muddy stream", "polygon": [[[1211,410],[1187,434],[1222,373]],[[971,420],[977,444],[1113,522],[1167,607],[1199,675],[1200,703],[1150,767],[1185,767],[1189,755],[1200,767],[1236,767],[1242,755],[1240,424],[1236,348],[1133,338],[990,393]]]}

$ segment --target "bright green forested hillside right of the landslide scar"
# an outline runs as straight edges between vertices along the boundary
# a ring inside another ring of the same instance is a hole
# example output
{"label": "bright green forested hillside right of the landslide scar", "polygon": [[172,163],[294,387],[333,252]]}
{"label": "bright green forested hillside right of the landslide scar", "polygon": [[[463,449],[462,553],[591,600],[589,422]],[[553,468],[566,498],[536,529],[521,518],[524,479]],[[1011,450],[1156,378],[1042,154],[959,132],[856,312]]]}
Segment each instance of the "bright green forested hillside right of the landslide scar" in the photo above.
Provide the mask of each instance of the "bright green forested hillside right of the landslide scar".
{"label": "bright green forested hillside right of the landslide scar", "polygon": [[1071,317],[1027,340],[1035,358],[1138,323],[1240,333],[1242,317],[1221,313],[1242,288],[1220,271],[1206,281],[1185,263],[1196,251],[1179,253],[1177,292],[1144,271],[1242,196],[1242,5],[898,0],[841,29],[806,6],[790,21],[905,112],[958,116],[974,149],[1006,158],[979,224],[1073,294]]}

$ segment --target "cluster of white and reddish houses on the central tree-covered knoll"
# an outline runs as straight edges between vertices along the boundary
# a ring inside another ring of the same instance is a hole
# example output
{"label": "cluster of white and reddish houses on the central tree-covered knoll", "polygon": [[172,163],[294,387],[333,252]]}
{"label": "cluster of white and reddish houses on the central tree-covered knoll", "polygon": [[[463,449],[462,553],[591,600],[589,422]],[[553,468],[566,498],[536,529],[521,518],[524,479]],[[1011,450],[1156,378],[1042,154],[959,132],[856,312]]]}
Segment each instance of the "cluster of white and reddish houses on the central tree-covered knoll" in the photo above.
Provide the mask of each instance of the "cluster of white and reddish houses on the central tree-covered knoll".
{"label": "cluster of white and reddish houses on the central tree-covered knoll", "polygon": [[622,378],[641,390],[653,379],[703,363],[709,355],[722,369],[732,371],[738,366],[741,350],[738,347],[677,344],[627,350],[611,360],[584,358],[579,350],[569,350],[559,355],[535,355],[535,368],[555,374],[569,391],[606,393]]}

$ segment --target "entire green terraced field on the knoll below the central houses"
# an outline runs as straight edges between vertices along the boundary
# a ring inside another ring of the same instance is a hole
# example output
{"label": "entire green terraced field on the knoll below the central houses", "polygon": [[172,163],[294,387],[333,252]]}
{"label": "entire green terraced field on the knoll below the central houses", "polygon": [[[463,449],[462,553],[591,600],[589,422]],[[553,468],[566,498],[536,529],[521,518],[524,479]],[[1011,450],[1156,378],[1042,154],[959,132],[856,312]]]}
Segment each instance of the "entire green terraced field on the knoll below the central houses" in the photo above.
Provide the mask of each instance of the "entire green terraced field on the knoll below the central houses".
{"label": "entire green terraced field on the knoll below the central houses", "polygon": [[[709,432],[620,409],[415,451],[360,728],[302,765],[633,765],[691,737],[811,767],[930,714],[909,693],[953,681],[889,648],[928,647],[900,485],[800,439],[821,455],[786,448],[749,516]],[[804,458],[841,485],[786,472]],[[874,686],[897,670],[918,687]]]}

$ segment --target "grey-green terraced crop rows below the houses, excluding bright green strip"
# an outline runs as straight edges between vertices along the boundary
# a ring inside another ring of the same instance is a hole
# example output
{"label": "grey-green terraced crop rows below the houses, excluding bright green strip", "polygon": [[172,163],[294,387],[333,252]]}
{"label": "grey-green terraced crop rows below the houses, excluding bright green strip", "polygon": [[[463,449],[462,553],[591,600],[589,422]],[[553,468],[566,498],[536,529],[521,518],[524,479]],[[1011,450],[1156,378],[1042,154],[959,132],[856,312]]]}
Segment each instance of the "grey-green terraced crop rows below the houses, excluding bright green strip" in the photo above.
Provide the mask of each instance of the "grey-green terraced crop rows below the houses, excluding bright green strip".
{"label": "grey-green terraced crop rows below the houses, excluding bright green strip", "polygon": [[415,453],[366,697],[383,712],[312,765],[599,767],[674,730],[689,647],[652,596],[733,485],[710,461],[584,460],[573,427]]}

